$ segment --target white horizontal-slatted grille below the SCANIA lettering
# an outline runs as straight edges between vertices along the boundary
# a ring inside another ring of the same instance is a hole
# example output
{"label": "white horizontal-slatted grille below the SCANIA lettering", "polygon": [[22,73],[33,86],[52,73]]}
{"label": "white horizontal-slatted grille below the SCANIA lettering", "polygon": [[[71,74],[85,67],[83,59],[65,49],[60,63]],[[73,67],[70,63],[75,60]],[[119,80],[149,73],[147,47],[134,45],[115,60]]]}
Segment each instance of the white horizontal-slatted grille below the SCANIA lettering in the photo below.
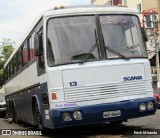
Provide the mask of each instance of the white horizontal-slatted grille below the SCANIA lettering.
{"label": "white horizontal-slatted grille below the SCANIA lettering", "polygon": [[67,88],[64,91],[66,102],[90,101],[147,93],[145,81],[83,86]]}

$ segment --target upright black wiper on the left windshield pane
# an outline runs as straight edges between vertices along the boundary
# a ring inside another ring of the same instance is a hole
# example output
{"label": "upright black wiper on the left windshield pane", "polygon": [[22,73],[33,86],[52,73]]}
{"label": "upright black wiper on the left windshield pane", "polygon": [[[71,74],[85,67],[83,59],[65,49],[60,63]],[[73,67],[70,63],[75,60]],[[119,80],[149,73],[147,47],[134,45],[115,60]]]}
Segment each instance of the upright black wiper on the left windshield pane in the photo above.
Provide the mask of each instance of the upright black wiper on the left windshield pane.
{"label": "upright black wiper on the left windshield pane", "polygon": [[97,32],[95,30],[95,39],[96,39],[96,43],[91,47],[91,49],[89,50],[89,52],[86,54],[86,56],[79,62],[79,64],[83,64],[88,57],[90,57],[90,55],[92,54],[92,52],[94,51],[94,49],[98,46],[98,39],[97,39]]}

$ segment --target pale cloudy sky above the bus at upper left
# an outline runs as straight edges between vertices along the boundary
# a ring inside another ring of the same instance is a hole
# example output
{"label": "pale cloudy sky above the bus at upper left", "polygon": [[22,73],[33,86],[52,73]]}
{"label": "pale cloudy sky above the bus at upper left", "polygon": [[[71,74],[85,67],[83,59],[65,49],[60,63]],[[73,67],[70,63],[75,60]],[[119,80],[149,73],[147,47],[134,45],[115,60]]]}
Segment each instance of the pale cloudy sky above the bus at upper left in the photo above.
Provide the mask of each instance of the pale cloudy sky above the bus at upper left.
{"label": "pale cloudy sky above the bus at upper left", "polygon": [[43,11],[55,6],[89,5],[91,0],[0,0],[0,43],[3,38],[16,44]]}

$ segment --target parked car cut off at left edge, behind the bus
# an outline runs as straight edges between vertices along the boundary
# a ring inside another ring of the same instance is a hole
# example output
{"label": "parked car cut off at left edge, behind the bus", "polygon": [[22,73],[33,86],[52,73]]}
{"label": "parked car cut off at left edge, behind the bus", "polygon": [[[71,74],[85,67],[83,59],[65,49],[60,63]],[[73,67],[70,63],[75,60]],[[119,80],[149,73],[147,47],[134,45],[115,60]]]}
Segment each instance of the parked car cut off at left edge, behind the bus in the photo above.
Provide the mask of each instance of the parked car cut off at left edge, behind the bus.
{"label": "parked car cut off at left edge, behind the bus", "polygon": [[5,117],[6,115],[6,101],[4,94],[0,93],[0,117]]}

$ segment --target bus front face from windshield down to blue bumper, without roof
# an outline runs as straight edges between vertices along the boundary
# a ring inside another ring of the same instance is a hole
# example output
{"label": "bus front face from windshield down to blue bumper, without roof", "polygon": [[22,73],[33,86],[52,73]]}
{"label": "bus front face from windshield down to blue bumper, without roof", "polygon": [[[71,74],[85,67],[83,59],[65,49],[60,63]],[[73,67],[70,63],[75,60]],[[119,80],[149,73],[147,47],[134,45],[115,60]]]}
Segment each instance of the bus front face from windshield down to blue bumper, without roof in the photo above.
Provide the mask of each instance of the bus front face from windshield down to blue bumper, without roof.
{"label": "bus front face from windshield down to blue bumper, without roof", "polygon": [[150,63],[136,15],[49,17],[46,55],[54,127],[155,113]]}

